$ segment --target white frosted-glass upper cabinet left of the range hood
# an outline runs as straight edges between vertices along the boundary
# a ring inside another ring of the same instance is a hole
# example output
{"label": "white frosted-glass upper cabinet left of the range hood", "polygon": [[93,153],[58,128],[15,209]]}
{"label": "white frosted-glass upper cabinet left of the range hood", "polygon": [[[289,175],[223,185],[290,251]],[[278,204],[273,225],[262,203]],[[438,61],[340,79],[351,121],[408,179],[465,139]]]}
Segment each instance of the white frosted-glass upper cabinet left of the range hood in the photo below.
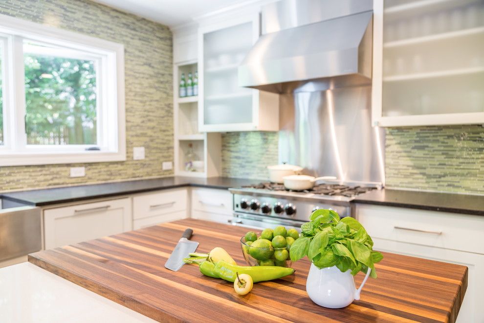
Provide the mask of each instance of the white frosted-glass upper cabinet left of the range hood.
{"label": "white frosted-glass upper cabinet left of the range hood", "polygon": [[238,84],[238,66],[259,35],[259,14],[199,28],[199,131],[279,130],[278,94]]}

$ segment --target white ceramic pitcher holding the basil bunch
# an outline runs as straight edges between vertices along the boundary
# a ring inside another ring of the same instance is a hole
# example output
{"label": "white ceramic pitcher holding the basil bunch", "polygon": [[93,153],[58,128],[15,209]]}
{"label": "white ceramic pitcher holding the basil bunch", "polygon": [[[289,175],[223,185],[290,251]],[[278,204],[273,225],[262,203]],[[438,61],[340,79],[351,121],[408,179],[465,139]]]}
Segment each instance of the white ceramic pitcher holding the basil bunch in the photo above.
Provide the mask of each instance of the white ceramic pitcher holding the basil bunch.
{"label": "white ceramic pitcher holding the basil bunch", "polygon": [[316,304],[328,308],[348,306],[353,300],[360,299],[360,292],[370,276],[368,268],[360,288],[354,286],[353,276],[348,270],[342,273],[336,266],[319,269],[313,263],[309,269],[306,291],[309,298]]}

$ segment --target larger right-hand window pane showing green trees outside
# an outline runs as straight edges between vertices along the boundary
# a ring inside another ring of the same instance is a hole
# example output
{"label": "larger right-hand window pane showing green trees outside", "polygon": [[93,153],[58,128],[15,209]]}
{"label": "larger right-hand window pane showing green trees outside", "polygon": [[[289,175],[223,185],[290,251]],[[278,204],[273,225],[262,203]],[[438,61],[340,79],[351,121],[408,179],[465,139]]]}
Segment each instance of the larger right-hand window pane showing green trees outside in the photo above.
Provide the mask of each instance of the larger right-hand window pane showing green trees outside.
{"label": "larger right-hand window pane showing green trees outside", "polygon": [[24,62],[27,144],[97,144],[95,60],[26,43]]}

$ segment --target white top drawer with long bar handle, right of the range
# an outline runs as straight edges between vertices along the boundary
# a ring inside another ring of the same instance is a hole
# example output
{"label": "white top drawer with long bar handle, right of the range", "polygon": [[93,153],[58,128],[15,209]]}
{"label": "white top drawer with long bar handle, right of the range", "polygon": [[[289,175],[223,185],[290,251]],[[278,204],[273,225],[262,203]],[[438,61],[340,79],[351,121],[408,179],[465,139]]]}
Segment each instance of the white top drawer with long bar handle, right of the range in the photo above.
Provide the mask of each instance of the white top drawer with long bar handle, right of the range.
{"label": "white top drawer with long bar handle, right of the range", "polygon": [[484,254],[484,217],[410,208],[357,205],[372,237]]}

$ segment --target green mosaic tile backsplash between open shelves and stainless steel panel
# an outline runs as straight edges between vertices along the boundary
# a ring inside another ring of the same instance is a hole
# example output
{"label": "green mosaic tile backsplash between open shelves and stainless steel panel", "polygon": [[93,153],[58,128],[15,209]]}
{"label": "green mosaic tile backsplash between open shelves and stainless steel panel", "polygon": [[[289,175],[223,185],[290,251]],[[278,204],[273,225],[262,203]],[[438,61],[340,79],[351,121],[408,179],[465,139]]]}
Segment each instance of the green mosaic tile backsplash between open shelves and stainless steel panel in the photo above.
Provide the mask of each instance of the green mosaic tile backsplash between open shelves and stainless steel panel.
{"label": "green mosaic tile backsplash between open shelves and stainless steel panel", "polygon": [[222,176],[267,180],[267,165],[278,161],[277,132],[222,134]]}

